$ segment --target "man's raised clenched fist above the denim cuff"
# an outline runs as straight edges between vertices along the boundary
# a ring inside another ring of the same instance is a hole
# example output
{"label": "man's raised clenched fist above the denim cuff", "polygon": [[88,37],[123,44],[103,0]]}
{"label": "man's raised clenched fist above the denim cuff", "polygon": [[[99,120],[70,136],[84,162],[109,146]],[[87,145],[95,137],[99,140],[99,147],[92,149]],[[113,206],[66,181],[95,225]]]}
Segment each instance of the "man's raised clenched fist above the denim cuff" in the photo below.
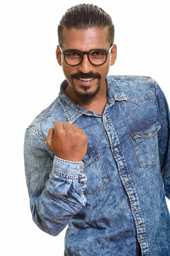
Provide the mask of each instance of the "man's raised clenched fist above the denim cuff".
{"label": "man's raised clenched fist above the denim cuff", "polygon": [[49,129],[46,144],[57,157],[80,162],[85,157],[88,140],[85,132],[77,125],[58,120],[54,128]]}

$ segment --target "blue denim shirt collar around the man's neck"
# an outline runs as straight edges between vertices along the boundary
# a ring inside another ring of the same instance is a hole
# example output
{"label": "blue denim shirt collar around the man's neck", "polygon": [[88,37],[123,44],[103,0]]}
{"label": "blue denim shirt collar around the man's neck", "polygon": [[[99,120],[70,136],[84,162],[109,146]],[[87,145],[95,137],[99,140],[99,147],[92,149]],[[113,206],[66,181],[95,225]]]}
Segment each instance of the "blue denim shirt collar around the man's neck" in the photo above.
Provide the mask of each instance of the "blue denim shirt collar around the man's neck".
{"label": "blue denim shirt collar around the man's neck", "polygon": [[[108,105],[113,105],[115,100],[127,100],[125,93],[119,87],[119,84],[112,80],[109,76],[106,77],[107,81],[107,90],[108,90]],[[79,104],[71,100],[64,92],[66,87],[68,86],[68,81],[65,79],[62,84],[60,85],[60,92],[59,92],[59,103],[65,112],[68,122],[72,124],[76,121],[76,119],[81,116],[82,114],[86,114],[91,116],[92,112],[82,108]]]}

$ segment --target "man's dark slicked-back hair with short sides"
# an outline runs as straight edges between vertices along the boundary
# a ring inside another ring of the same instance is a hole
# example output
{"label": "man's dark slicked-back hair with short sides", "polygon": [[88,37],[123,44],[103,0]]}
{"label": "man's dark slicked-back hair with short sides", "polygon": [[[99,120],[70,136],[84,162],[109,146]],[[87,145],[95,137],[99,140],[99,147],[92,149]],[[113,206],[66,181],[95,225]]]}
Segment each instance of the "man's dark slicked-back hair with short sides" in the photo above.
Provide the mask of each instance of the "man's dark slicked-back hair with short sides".
{"label": "man's dark slicked-back hair with short sides", "polygon": [[108,42],[112,45],[114,41],[114,25],[111,17],[102,8],[93,4],[79,4],[65,12],[58,26],[58,41],[60,46],[64,42],[64,27],[67,29],[102,29],[108,27]]}

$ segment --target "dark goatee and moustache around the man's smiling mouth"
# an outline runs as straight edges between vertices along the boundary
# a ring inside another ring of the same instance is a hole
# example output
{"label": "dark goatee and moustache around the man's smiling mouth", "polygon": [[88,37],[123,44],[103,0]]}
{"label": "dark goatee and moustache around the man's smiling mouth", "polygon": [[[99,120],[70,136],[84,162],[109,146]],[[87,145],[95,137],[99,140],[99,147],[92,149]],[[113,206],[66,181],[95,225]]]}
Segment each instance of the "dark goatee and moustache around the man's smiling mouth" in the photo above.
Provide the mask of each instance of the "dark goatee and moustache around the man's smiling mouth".
{"label": "dark goatee and moustache around the man's smiling mouth", "polygon": [[[87,92],[89,86],[83,86],[80,85],[80,87],[84,90],[85,93],[80,93],[79,91],[76,90],[75,87],[75,83],[74,83],[74,78],[97,78],[99,79],[98,83],[97,83],[97,88],[94,92]],[[91,102],[93,101],[94,97],[97,95],[97,93],[99,93],[101,84],[100,84],[100,79],[101,79],[101,75],[99,73],[93,73],[93,72],[89,72],[88,74],[84,74],[82,72],[79,73],[74,73],[71,74],[71,81],[72,81],[72,90],[74,92],[74,94],[77,96],[77,99],[83,104],[83,105],[90,105]]]}

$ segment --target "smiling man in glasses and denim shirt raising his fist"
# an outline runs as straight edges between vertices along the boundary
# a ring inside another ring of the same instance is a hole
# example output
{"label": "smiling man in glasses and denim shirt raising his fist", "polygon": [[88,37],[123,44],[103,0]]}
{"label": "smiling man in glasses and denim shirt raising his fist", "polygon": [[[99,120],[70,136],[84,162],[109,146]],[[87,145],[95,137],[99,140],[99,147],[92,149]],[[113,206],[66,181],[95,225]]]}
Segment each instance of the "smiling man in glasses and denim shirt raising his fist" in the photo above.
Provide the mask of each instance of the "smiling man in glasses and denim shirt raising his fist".
{"label": "smiling man in glasses and denim shirt raising his fist", "polygon": [[[168,256],[169,109],[147,76],[107,76],[111,17],[80,4],[58,27],[66,80],[29,125],[24,156],[32,218],[64,255]],[[163,186],[164,185],[164,186]]]}

